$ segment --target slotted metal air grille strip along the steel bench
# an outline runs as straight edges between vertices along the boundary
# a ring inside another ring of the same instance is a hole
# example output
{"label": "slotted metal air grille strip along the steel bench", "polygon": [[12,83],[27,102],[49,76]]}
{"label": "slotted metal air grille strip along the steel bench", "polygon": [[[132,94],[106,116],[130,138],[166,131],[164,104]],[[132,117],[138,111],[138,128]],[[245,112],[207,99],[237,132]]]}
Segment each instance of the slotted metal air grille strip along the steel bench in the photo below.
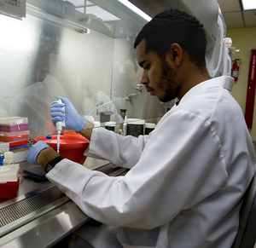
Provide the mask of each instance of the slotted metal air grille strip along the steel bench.
{"label": "slotted metal air grille strip along the steel bench", "polygon": [[65,196],[65,194],[62,193],[58,187],[50,187],[41,193],[37,193],[29,198],[3,207],[3,209],[0,209],[0,228],[3,228],[3,226],[11,222],[15,222],[33,211],[37,211],[45,205],[49,205],[63,196]]}

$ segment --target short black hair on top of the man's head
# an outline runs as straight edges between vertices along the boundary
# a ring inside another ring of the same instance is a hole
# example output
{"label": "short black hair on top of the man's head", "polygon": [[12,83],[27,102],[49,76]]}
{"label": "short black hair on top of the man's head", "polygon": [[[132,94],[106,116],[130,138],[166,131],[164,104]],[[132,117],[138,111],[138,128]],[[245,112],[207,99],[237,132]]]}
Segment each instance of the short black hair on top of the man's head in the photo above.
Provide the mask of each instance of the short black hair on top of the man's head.
{"label": "short black hair on top of the man's head", "polygon": [[177,43],[196,66],[201,69],[206,66],[207,37],[204,27],[199,20],[183,11],[169,9],[155,15],[137,35],[135,49],[143,39],[146,53],[152,51],[163,57],[172,43]]}

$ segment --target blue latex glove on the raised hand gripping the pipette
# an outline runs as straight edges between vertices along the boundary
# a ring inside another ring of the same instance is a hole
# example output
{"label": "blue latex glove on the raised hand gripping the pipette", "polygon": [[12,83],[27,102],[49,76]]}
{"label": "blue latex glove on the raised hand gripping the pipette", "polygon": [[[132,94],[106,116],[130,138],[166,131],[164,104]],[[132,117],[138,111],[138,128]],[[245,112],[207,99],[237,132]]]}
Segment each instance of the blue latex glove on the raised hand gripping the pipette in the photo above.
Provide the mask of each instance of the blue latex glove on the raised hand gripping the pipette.
{"label": "blue latex glove on the raised hand gripping the pipette", "polygon": [[65,119],[65,130],[74,130],[79,133],[80,130],[84,128],[84,125],[87,122],[87,118],[84,118],[79,115],[79,112],[73,107],[73,104],[67,100],[67,98],[61,98],[61,101],[65,104],[66,108],[66,117],[64,115],[64,110],[61,107],[64,107],[62,103],[53,102],[50,105],[51,112],[51,121],[56,125],[57,121],[62,121]]}

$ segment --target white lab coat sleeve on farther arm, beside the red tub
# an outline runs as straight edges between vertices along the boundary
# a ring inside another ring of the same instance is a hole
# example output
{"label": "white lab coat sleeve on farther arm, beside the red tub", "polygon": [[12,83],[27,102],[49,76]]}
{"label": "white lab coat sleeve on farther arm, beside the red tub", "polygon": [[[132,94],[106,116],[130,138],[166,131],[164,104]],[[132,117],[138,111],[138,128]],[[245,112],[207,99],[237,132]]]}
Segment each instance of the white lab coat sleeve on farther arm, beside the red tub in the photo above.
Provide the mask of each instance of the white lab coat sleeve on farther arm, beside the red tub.
{"label": "white lab coat sleeve on farther arm, beside the red tub", "polygon": [[106,159],[119,167],[131,169],[140,159],[148,136],[119,136],[103,128],[93,130],[84,156]]}

